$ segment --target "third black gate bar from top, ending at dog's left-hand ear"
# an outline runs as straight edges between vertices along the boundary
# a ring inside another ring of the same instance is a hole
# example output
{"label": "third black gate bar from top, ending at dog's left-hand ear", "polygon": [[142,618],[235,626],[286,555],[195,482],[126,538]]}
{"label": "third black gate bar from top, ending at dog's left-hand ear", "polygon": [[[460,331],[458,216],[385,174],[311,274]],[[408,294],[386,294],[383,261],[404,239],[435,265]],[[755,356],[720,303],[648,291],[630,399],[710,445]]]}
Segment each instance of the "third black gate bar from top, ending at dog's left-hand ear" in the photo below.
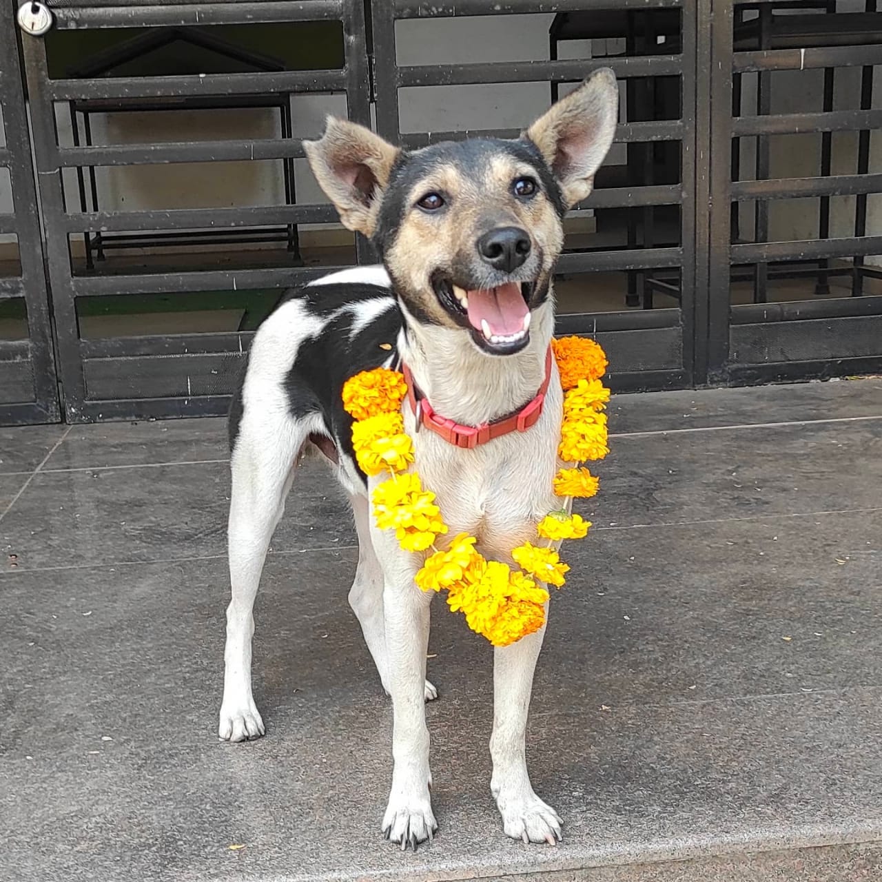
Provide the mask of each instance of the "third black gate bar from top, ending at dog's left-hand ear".
{"label": "third black gate bar from top, ending at dog's left-hand ear", "polygon": [[172,162],[235,162],[300,159],[303,144],[283,138],[253,141],[187,141],[124,146],[59,147],[63,168],[83,166],[164,165]]}

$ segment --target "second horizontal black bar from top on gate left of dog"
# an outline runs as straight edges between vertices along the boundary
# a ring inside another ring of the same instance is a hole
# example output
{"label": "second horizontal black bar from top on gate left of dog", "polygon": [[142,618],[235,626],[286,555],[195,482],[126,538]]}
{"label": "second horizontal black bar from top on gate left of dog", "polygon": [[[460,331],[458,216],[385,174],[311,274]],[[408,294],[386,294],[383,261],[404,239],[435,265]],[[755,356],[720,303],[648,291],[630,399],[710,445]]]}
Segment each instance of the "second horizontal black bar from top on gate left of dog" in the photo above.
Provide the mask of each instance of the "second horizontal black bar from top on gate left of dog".
{"label": "second horizontal black bar from top on gate left of dog", "polygon": [[273,92],[341,92],[346,85],[346,71],[259,71],[177,77],[51,79],[45,88],[50,101],[90,101]]}

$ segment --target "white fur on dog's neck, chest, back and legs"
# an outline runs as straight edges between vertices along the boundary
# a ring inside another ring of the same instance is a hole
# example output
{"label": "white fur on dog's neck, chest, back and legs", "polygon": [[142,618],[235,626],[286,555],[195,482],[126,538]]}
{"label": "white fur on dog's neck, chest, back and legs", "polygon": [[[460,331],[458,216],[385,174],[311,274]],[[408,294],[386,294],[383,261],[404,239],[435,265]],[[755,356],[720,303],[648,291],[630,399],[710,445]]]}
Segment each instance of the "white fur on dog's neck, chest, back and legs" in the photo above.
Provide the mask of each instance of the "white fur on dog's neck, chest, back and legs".
{"label": "white fur on dog's neck, chest, back and legs", "polygon": [[[359,267],[333,273],[312,285],[368,278],[379,283],[381,276],[387,284],[382,268]],[[355,322],[363,326],[391,303],[391,297],[378,297],[341,309],[357,310]],[[297,301],[286,303],[261,326],[250,350],[243,419],[232,456],[228,533],[232,601],[219,726],[221,738],[232,741],[264,733],[251,695],[251,609],[298,453],[310,431],[320,429],[316,418],[295,420],[289,414],[281,379],[294,363],[300,343],[321,333],[332,319],[310,315]],[[439,414],[477,425],[522,406],[542,385],[554,325],[550,297],[534,310],[530,343],[516,355],[486,355],[461,330],[408,325],[407,336],[400,334],[400,353]],[[539,421],[524,433],[512,432],[474,450],[449,445],[425,429],[416,432],[414,416],[404,407],[406,428],[414,439],[415,465],[423,484],[437,494],[450,534],[475,534],[485,556],[506,563],[512,563],[513,547],[534,537],[537,519],[559,506],[552,477],[559,466],[563,393],[557,368],[552,370]],[[423,709],[424,701],[436,695],[425,679],[431,598],[414,583],[422,556],[402,551],[394,534],[377,529],[370,518],[354,463],[342,458],[337,474],[350,493],[359,536],[359,561],[349,602],[380,680],[392,695],[394,767],[383,826],[392,841],[415,845],[436,829]],[[377,480],[370,480],[370,488]],[[541,646],[542,632],[538,632],[495,650],[491,789],[505,833],[525,841],[554,842],[560,836],[560,820],[535,795],[524,748],[527,707]]]}

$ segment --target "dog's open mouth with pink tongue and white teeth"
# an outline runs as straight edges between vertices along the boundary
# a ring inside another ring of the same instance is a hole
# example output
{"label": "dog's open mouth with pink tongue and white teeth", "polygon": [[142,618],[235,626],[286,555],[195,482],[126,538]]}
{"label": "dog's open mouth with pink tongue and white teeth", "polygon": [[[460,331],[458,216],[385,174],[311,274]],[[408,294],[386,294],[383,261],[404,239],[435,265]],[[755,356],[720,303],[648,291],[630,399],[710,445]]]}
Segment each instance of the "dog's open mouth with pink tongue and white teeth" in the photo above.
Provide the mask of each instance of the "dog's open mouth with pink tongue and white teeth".
{"label": "dog's open mouth with pink tongue and white teeth", "polygon": [[496,288],[460,288],[450,282],[437,286],[449,312],[469,326],[482,349],[494,355],[510,355],[527,345],[530,336],[529,308],[533,285],[506,282]]}

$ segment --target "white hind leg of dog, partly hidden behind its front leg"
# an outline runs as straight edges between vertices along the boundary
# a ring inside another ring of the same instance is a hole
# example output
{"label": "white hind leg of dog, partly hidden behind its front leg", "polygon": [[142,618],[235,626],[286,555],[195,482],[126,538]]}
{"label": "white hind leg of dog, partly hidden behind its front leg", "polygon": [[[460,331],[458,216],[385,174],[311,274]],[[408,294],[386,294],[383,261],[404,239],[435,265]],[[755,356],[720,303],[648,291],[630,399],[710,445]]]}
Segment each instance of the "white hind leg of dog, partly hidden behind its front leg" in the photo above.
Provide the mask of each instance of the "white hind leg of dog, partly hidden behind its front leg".
{"label": "white hind leg of dog, partly hidden behind its front leg", "polygon": [[[377,665],[380,682],[386,694],[390,695],[392,693],[383,616],[383,570],[370,539],[370,508],[367,498],[360,494],[350,494],[349,501],[355,516],[355,529],[358,531],[358,566],[355,570],[355,581],[349,591],[349,606],[362,626],[364,642]],[[437,694],[437,689],[426,680],[426,701],[437,699]]]}

